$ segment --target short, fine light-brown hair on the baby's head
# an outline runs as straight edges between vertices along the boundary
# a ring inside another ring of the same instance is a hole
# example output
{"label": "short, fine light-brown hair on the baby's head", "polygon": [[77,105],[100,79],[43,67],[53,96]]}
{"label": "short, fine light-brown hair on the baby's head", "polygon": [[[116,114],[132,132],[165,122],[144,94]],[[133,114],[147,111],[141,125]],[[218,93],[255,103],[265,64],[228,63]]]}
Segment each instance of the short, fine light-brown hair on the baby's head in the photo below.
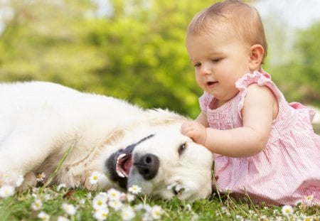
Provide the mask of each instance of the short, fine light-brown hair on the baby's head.
{"label": "short, fine light-brown hair on the baby's head", "polygon": [[249,46],[260,44],[267,56],[267,41],[260,14],[253,6],[239,0],[218,2],[200,11],[188,26],[188,35],[210,33],[215,23],[226,23]]}

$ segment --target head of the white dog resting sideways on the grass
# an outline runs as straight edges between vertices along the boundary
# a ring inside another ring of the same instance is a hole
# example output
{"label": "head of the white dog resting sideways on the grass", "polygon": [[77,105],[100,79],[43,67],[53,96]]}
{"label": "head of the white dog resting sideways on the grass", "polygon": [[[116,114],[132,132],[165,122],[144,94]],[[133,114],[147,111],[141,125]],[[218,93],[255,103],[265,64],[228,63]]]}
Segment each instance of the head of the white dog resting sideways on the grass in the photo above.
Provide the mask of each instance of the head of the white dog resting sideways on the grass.
{"label": "head of the white dog resting sideways on the grass", "polygon": [[138,185],[143,195],[197,200],[211,193],[212,163],[208,149],[179,129],[166,129],[112,153],[105,174],[124,189]]}

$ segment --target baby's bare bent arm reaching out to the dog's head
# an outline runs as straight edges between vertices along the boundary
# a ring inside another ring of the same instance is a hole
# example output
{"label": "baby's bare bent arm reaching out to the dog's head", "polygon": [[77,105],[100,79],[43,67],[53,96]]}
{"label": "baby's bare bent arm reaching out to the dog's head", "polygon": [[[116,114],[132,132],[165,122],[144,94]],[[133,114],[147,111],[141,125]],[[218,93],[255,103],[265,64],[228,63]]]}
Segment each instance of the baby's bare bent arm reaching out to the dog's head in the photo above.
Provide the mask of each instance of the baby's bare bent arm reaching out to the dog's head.
{"label": "baby's bare bent arm reaching out to the dog's head", "polygon": [[194,141],[198,144],[204,144],[213,153],[230,157],[247,157],[253,156],[265,148],[270,137],[272,119],[276,116],[277,100],[274,95],[267,87],[255,84],[250,85],[247,89],[242,109],[242,127],[218,130],[205,128],[205,126],[193,122],[196,125],[193,125],[193,129],[189,128],[192,127],[189,124],[188,127],[186,126],[188,129],[181,128],[181,131],[186,136],[192,134],[190,137]]}

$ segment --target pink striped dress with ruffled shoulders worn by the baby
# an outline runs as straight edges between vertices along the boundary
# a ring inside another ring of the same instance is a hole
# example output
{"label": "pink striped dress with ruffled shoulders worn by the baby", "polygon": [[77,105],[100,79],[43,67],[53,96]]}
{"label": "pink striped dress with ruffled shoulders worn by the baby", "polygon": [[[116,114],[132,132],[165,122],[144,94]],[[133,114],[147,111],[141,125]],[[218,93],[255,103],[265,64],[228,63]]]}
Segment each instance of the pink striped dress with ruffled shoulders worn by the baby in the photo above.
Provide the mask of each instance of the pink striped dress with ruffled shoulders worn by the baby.
{"label": "pink striped dress with ruffled shoulders worn by the baby", "polygon": [[241,109],[247,87],[253,83],[269,87],[277,97],[279,112],[270,138],[255,156],[215,154],[215,186],[220,192],[231,191],[235,198],[249,195],[256,203],[295,205],[311,197],[320,204],[320,136],[311,126],[314,112],[297,102],[288,103],[267,72],[240,78],[238,95],[218,109],[210,109],[215,98],[205,92],[199,102],[209,126],[221,130],[242,126]]}

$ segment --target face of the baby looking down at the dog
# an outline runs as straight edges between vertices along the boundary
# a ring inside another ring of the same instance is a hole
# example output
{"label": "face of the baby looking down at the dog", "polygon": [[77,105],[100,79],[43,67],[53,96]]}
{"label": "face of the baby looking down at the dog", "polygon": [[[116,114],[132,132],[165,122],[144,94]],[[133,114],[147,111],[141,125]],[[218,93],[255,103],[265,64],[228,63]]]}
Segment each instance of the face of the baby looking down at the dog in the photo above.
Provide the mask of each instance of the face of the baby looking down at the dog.
{"label": "face of the baby looking down at the dog", "polygon": [[211,31],[188,35],[186,48],[195,67],[198,85],[221,102],[237,95],[235,82],[250,72],[250,47],[230,28],[215,25]]}

